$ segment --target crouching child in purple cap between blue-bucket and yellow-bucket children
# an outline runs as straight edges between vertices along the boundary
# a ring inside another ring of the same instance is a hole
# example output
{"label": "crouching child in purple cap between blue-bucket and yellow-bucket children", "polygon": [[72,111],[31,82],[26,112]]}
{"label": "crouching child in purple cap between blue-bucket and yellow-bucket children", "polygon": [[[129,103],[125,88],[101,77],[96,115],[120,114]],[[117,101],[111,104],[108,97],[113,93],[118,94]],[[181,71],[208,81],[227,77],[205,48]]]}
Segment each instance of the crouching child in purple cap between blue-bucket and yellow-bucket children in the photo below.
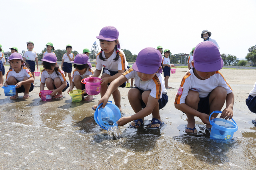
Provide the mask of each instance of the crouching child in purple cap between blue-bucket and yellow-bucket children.
{"label": "crouching child in purple cap between blue-bucket and yellow-bucket children", "polygon": [[57,57],[53,53],[48,53],[42,59],[44,70],[41,73],[40,91],[44,90],[44,84],[48,90],[51,90],[53,99],[62,99],[62,92],[69,87],[64,71],[59,69],[57,65]]}

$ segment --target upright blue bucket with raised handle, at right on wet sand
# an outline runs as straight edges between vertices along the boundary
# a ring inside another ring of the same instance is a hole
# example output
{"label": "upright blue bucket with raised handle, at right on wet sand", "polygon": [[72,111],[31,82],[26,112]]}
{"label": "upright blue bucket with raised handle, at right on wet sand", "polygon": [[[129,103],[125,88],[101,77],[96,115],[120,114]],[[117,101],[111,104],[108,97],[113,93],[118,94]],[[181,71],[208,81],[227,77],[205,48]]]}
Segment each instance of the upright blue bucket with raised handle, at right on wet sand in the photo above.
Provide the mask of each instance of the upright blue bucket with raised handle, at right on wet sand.
{"label": "upright blue bucket with raised handle, at right on wet sand", "polygon": [[237,131],[237,125],[236,122],[231,119],[233,122],[225,120],[225,119],[220,119],[220,118],[215,118],[210,120],[211,115],[213,113],[222,113],[221,111],[214,111],[210,114],[209,116],[209,121],[210,124],[212,125],[211,133],[210,133],[210,139],[213,140],[220,140],[222,142],[229,142],[232,140],[234,132]]}

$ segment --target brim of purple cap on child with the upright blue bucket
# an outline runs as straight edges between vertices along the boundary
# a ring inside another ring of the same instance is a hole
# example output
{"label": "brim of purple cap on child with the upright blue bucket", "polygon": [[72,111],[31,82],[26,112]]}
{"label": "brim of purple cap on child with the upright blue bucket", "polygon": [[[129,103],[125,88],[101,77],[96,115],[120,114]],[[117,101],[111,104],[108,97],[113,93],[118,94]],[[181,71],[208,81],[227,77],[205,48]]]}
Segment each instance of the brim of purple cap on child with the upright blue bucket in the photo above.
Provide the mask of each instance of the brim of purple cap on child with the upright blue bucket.
{"label": "brim of purple cap on child with the upright blue bucket", "polygon": [[194,67],[197,71],[201,71],[201,72],[218,71],[223,67],[223,60],[222,58],[220,58],[219,61],[211,64],[200,64],[194,61]]}

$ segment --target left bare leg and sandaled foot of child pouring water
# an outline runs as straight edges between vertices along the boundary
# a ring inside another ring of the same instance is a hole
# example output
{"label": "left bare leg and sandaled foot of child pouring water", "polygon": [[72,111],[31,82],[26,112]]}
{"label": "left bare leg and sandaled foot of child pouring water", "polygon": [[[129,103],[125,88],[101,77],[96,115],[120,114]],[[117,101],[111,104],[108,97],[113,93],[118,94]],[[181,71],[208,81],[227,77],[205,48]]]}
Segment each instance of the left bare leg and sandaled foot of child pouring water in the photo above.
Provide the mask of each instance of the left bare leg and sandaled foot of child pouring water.
{"label": "left bare leg and sandaled foot of child pouring water", "polygon": [[[136,88],[132,88],[128,92],[128,100],[129,103],[134,111],[134,113],[138,113],[142,110],[141,101],[142,101],[142,95],[140,94],[140,91]],[[144,121],[144,117],[141,118]],[[138,124],[141,124],[140,121],[138,121]],[[135,126],[135,123],[131,123],[132,126]],[[138,126],[136,126],[138,128]]]}

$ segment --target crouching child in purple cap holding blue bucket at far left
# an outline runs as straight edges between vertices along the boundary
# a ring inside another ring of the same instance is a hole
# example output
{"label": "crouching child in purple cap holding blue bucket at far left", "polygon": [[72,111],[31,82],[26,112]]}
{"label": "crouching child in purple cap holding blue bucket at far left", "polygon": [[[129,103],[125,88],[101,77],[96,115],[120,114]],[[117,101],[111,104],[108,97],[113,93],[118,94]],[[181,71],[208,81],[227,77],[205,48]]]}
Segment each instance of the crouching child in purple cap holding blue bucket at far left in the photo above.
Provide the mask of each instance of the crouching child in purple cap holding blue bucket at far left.
{"label": "crouching child in purple cap holding blue bucket at far left", "polygon": [[34,78],[29,68],[23,61],[20,53],[12,53],[9,57],[9,63],[12,66],[6,73],[6,82],[4,86],[16,85],[16,94],[10,99],[18,99],[18,93],[24,93],[23,99],[28,99],[29,92],[34,89]]}

